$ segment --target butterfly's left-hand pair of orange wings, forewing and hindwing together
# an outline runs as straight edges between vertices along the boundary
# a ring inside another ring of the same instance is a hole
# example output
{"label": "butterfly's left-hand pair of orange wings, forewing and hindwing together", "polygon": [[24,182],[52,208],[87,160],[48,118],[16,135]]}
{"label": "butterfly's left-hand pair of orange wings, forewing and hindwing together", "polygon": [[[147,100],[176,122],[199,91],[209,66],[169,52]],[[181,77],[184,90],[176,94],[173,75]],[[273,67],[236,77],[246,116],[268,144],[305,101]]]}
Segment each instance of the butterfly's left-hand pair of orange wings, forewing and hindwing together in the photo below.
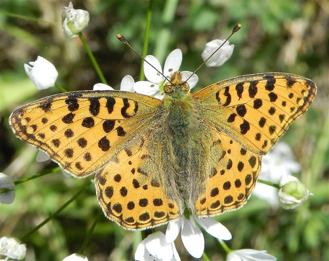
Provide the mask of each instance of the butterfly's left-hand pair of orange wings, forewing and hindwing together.
{"label": "butterfly's left-hand pair of orange wings, forewing and hindwing together", "polygon": [[161,104],[132,92],[69,92],[22,106],[9,122],[16,137],[72,175],[97,171],[104,214],[126,229],[145,229],[180,215],[177,192],[168,189],[170,164],[163,162],[168,146],[159,142]]}

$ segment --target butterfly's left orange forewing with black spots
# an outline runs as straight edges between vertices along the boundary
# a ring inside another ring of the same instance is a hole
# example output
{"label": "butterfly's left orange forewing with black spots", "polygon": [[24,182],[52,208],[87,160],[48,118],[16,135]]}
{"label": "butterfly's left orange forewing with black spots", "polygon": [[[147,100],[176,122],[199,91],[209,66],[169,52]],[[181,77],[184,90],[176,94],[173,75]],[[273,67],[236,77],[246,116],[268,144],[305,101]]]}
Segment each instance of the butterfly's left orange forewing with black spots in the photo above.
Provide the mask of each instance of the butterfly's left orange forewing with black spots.
{"label": "butterfly's left orange forewing with black spots", "polygon": [[143,121],[159,103],[132,92],[68,92],[18,108],[9,122],[16,137],[48,153],[64,170],[83,177],[143,132]]}

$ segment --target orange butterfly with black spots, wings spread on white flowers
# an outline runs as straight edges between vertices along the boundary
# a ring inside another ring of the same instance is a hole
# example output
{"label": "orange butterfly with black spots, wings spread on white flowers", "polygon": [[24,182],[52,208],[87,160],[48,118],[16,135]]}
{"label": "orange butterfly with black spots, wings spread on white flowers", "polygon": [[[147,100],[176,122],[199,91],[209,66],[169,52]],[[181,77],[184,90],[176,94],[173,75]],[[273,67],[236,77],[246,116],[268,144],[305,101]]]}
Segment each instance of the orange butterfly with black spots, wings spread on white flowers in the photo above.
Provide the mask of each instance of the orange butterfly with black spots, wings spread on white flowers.
{"label": "orange butterfly with black spots, wings spread on white flowers", "polygon": [[316,94],[311,80],[260,73],[190,93],[172,74],[165,97],[74,91],[16,109],[16,137],[62,169],[95,175],[105,214],[129,230],[207,217],[248,200],[266,154]]}

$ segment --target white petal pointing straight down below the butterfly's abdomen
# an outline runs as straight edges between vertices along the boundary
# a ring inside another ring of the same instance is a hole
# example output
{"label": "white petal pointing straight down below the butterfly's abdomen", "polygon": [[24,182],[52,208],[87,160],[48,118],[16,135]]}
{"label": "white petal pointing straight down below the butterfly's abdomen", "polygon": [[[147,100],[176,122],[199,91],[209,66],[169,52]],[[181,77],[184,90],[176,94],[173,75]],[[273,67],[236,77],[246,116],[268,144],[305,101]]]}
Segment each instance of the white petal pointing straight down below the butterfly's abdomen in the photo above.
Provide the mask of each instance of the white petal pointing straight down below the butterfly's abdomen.
{"label": "white petal pointing straight down below the butterfly's abdomen", "polygon": [[183,219],[184,226],[181,229],[181,241],[186,250],[195,258],[202,256],[205,249],[205,239],[198,227],[193,227],[191,220]]}

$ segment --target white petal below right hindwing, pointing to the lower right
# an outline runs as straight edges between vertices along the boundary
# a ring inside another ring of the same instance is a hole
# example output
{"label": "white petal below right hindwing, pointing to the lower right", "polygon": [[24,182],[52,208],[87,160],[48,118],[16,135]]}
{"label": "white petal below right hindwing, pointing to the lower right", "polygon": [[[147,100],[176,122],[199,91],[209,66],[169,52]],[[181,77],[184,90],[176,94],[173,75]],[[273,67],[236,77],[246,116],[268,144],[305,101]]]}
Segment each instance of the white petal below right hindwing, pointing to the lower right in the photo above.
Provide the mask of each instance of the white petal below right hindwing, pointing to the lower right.
{"label": "white petal below right hindwing, pointing to the lower right", "polygon": [[232,239],[232,235],[231,235],[230,231],[224,225],[222,225],[220,222],[217,222],[216,220],[214,220],[210,217],[196,218],[196,221],[210,235],[212,235],[216,238],[223,239],[223,240]]}

